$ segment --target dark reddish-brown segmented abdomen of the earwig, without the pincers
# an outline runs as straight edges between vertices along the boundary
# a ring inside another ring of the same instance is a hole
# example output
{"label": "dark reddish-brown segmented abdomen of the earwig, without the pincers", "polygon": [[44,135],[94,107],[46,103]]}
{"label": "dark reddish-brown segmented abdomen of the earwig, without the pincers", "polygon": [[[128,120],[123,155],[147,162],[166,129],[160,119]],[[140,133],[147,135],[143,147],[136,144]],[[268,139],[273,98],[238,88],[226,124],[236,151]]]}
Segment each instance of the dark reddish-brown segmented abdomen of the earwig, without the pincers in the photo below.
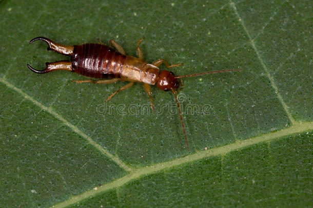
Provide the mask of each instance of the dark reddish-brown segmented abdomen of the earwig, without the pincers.
{"label": "dark reddish-brown segmented abdomen of the earwig, without the pincers", "polygon": [[92,78],[120,78],[126,56],[103,44],[74,46],[73,72]]}

